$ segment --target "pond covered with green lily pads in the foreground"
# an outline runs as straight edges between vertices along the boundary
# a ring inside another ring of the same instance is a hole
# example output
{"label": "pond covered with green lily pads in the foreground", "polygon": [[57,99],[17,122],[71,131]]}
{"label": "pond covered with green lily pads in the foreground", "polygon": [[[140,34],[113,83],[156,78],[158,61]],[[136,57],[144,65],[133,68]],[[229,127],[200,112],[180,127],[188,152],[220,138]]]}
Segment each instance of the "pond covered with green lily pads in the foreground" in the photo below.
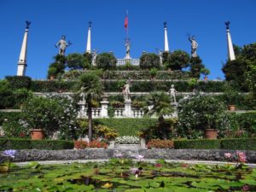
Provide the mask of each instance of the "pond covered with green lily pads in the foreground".
{"label": "pond covered with green lily pads in the foreground", "polygon": [[112,159],[105,163],[11,166],[0,191],[256,191],[256,169]]}

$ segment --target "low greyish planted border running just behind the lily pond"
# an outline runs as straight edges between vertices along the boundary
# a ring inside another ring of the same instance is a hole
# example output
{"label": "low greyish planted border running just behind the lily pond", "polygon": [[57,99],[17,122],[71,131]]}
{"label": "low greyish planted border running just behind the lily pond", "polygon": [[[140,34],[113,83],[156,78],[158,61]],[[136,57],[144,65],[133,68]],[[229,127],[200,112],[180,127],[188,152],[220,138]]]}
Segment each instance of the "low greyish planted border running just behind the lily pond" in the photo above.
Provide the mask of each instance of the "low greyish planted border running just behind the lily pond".
{"label": "low greyish planted border running just behind the lily pond", "polygon": [[[243,151],[247,155],[248,163],[256,163],[256,151]],[[1,153],[1,152],[0,152]],[[134,158],[141,154],[144,159],[166,160],[216,160],[226,161],[224,153],[230,153],[236,161],[235,150],[207,150],[207,149],[103,149],[88,148],[82,150],[18,150],[14,161],[42,161],[42,160],[107,160],[115,154],[124,154],[126,158]],[[2,154],[2,153],[1,153]]]}

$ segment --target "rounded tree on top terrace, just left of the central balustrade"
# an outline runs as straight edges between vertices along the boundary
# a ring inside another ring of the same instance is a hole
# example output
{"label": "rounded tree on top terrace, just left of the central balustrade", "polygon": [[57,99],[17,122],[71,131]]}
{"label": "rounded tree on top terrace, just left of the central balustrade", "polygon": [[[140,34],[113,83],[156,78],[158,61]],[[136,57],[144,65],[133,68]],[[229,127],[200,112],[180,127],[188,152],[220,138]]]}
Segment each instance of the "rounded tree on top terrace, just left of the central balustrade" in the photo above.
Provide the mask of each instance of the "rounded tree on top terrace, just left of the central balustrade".
{"label": "rounded tree on top terrace, just left of the central balustrade", "polygon": [[117,59],[111,53],[102,53],[96,56],[96,66],[104,70],[116,67]]}

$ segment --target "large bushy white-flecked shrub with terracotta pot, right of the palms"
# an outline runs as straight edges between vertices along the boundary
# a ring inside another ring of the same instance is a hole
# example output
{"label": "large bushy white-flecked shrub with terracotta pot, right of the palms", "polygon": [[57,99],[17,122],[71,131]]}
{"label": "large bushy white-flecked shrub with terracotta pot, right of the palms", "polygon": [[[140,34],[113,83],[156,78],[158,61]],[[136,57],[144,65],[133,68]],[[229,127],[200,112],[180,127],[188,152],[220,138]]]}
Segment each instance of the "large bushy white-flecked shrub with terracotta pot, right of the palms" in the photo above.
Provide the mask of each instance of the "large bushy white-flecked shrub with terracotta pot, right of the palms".
{"label": "large bushy white-flecked shrub with terracotta pot, right of the palms", "polygon": [[204,131],[205,137],[217,138],[217,130],[224,123],[224,103],[213,96],[195,95],[179,103],[178,126],[183,134]]}

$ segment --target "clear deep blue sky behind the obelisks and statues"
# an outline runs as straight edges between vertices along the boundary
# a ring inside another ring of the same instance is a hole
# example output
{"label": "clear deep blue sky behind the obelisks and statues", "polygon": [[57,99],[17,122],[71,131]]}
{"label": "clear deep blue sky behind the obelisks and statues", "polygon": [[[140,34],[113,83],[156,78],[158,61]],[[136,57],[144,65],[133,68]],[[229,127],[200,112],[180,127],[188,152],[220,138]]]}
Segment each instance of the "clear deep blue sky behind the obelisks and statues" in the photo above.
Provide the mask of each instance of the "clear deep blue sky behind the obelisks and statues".
{"label": "clear deep blue sky behind the obelisks and statues", "polygon": [[222,63],[227,59],[224,21],[230,20],[234,44],[256,42],[255,0],[0,0],[0,79],[15,75],[25,21],[31,20],[26,75],[45,79],[49,63],[58,50],[62,34],[73,45],[69,53],[86,49],[88,21],[92,20],[92,49],[125,56],[125,11],[129,11],[131,57],[143,50],[164,49],[163,21],[167,21],[171,50],[190,53],[187,33],[195,35],[198,55],[210,69],[210,79],[224,79]]}

